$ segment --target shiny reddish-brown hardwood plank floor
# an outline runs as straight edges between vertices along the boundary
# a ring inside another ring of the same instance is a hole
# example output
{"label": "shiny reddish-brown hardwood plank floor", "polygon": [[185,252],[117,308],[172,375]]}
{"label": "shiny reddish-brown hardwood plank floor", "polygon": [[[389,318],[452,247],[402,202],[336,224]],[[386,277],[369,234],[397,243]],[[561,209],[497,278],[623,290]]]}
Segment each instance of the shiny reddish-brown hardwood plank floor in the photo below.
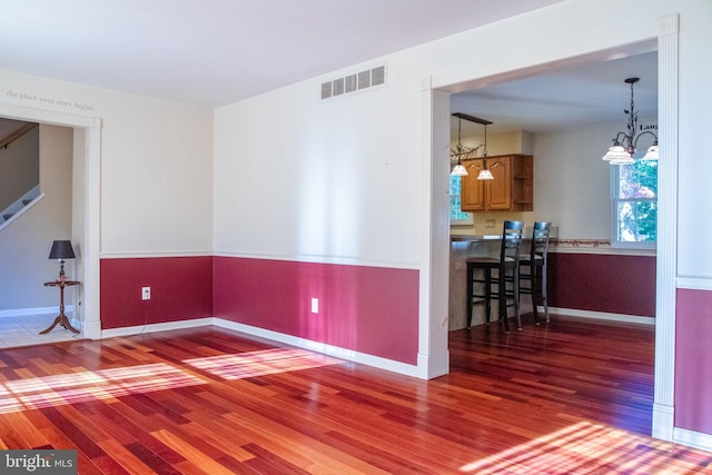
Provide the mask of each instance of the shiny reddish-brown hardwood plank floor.
{"label": "shiny reddish-brown hardwood plank floor", "polygon": [[0,448],[93,474],[683,474],[654,441],[653,328],[451,334],[429,382],[217,327],[0,352]]}

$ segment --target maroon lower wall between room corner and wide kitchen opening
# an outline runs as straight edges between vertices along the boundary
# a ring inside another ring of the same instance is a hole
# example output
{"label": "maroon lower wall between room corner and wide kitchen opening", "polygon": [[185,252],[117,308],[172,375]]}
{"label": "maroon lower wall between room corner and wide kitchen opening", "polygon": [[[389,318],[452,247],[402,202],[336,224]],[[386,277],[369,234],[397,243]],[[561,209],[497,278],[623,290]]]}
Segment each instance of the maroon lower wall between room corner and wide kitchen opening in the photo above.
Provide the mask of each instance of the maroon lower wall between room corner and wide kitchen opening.
{"label": "maroon lower wall between room corner and wide kitchen opening", "polygon": [[[417,364],[418,271],[216,257],[215,316]],[[319,313],[312,313],[312,298]]]}

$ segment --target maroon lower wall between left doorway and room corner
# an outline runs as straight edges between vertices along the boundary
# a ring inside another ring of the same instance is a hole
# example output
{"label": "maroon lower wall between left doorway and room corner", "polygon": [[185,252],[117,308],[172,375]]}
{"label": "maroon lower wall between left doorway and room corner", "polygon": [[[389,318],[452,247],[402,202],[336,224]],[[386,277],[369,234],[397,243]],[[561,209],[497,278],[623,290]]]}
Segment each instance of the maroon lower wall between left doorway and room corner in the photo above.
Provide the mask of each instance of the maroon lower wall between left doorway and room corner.
{"label": "maroon lower wall between left doorway and room corner", "polygon": [[[101,259],[101,328],[212,316],[212,257]],[[151,299],[141,299],[141,287]]]}

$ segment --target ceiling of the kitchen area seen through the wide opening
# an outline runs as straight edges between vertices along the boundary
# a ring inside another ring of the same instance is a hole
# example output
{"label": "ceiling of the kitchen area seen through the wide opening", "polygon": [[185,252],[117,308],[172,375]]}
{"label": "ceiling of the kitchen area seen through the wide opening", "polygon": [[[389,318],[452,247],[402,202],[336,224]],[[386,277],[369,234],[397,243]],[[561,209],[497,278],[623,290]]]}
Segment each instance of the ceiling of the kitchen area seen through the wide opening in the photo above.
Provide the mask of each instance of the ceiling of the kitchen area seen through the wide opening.
{"label": "ceiling of the kitchen area seen through the wide opening", "polygon": [[[651,46],[643,46],[650,50]],[[605,55],[602,55],[605,57]],[[612,120],[625,127],[631,87],[626,78],[640,78],[634,86],[635,111],[640,117],[657,115],[657,51],[619,59],[593,59],[573,66],[552,67],[544,72],[495,82],[451,96],[451,110],[492,121],[487,131],[524,129],[546,132]],[[455,130],[456,119],[453,119]],[[482,132],[481,125],[465,123],[463,135]],[[454,131],[456,133],[456,131]]]}

